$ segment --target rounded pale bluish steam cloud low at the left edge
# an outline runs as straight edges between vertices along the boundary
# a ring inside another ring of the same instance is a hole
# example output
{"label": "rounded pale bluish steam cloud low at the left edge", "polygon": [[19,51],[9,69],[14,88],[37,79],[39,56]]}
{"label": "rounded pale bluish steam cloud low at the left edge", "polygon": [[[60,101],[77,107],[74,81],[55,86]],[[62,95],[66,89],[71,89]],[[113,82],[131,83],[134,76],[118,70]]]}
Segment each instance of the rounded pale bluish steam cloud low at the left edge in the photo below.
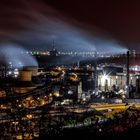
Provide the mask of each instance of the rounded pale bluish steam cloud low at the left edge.
{"label": "rounded pale bluish steam cloud low at the left edge", "polygon": [[34,57],[26,53],[27,51],[21,46],[0,45],[0,54],[3,63],[11,64],[13,67],[20,68],[23,66],[38,66]]}

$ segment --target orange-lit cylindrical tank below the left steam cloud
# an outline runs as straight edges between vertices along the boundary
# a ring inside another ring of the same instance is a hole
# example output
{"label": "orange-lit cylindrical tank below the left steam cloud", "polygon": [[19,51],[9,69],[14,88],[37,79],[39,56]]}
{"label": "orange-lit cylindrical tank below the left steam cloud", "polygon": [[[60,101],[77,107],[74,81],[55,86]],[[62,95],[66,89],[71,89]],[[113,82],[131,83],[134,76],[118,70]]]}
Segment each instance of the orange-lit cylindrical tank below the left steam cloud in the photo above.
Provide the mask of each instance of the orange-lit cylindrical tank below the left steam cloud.
{"label": "orange-lit cylindrical tank below the left steam cloud", "polygon": [[20,80],[21,81],[31,81],[32,79],[32,71],[22,70],[20,71]]}

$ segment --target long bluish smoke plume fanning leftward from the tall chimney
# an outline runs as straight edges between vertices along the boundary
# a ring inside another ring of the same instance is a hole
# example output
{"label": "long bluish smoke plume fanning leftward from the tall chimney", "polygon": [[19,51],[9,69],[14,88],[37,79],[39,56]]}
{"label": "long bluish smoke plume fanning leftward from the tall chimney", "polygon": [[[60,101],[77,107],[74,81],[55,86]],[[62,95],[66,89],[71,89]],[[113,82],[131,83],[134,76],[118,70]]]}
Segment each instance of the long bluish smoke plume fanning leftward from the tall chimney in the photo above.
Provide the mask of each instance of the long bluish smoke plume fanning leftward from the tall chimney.
{"label": "long bluish smoke plume fanning leftward from the tall chimney", "polygon": [[[16,10],[9,7],[8,10],[10,18],[4,17],[3,26],[0,26],[1,43],[16,43],[26,49],[47,50],[52,48],[54,40],[58,50],[96,50],[113,54],[126,52],[120,43],[107,37],[101,30],[95,27],[87,30],[87,25],[66,18],[42,2],[24,1],[22,7]],[[4,27],[7,29],[4,30]]]}

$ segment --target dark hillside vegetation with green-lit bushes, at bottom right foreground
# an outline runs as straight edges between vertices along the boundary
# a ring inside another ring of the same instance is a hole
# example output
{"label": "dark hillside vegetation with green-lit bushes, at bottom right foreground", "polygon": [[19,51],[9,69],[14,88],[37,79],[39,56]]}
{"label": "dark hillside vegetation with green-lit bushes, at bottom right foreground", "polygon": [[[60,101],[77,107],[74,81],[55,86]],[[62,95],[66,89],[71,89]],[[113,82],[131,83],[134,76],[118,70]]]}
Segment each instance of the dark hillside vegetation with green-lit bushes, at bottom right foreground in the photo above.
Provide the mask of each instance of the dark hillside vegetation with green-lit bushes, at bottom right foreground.
{"label": "dark hillside vegetation with green-lit bushes, at bottom right foreground", "polygon": [[[91,112],[90,112],[91,113]],[[85,113],[84,115],[69,115],[61,122],[53,124],[46,136],[74,135],[116,135],[133,129],[140,123],[140,109],[130,106],[127,109],[117,109],[103,114]],[[67,127],[66,127],[67,126]],[[69,127],[68,127],[69,126]],[[53,128],[53,129],[52,129]]]}

